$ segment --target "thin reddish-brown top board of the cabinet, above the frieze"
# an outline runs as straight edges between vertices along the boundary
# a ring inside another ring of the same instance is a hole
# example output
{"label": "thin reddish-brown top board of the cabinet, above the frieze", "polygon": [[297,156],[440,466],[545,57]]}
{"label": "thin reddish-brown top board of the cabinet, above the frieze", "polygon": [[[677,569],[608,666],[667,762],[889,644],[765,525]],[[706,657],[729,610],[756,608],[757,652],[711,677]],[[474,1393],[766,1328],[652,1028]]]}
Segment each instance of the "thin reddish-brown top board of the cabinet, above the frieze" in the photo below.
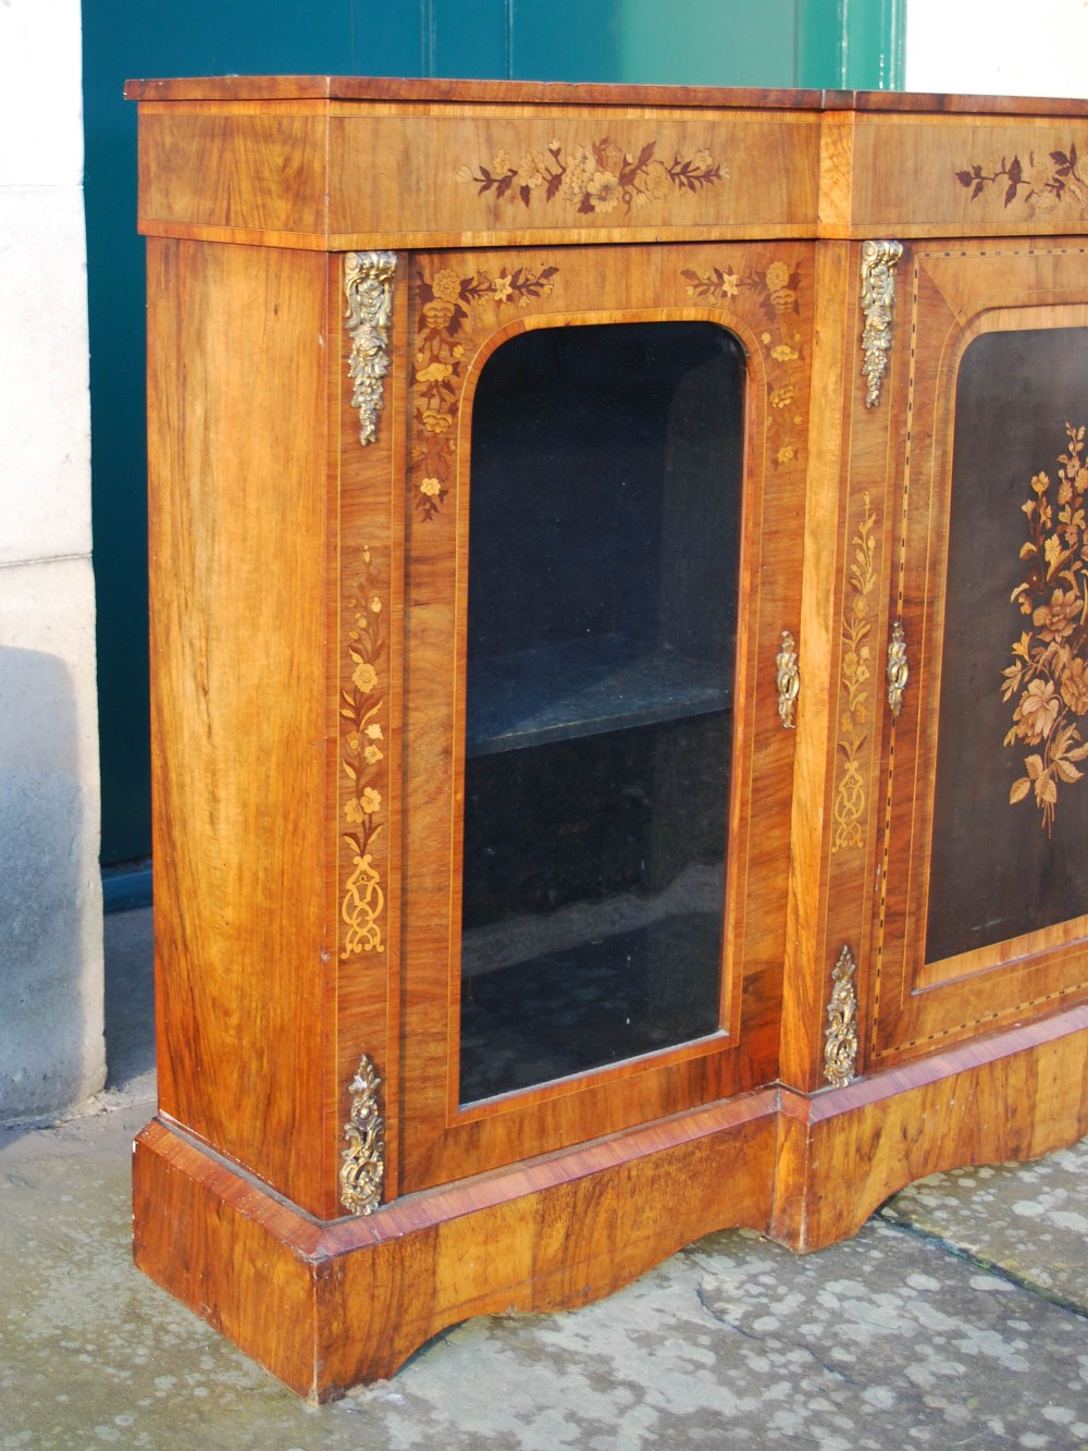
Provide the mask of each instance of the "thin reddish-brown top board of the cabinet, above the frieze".
{"label": "thin reddish-brown top board of the cabinet, above the frieze", "polygon": [[920,115],[1088,116],[1088,100],[915,91],[765,90],[725,86],[614,86],[567,81],[403,78],[395,75],[196,75],[131,80],[129,100],[450,102],[512,106],[657,106],[683,109],[854,110]]}

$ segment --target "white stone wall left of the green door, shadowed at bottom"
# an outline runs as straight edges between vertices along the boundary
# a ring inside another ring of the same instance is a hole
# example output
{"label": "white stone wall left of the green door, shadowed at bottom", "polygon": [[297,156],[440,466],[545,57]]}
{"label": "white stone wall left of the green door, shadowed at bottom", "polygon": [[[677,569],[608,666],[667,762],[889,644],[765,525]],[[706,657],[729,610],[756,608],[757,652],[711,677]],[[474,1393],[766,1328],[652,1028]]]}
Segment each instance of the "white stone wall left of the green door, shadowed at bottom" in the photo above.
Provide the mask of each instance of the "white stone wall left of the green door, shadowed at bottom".
{"label": "white stone wall left of the green door, shadowed at bottom", "polygon": [[0,0],[0,1122],[104,1078],[78,0]]}

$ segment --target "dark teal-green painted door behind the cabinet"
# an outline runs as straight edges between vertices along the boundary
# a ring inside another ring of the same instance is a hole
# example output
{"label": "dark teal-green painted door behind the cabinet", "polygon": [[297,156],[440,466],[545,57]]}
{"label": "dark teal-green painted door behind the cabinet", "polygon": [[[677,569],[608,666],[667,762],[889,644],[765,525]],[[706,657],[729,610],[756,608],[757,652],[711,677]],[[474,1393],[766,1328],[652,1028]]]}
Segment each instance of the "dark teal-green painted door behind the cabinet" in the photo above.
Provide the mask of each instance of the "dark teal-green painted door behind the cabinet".
{"label": "dark teal-green painted door behind the cabinet", "polygon": [[[151,850],[139,75],[374,74],[894,87],[905,0],[84,0],[102,860]],[[589,17],[592,15],[592,19]],[[147,895],[107,874],[107,904]]]}

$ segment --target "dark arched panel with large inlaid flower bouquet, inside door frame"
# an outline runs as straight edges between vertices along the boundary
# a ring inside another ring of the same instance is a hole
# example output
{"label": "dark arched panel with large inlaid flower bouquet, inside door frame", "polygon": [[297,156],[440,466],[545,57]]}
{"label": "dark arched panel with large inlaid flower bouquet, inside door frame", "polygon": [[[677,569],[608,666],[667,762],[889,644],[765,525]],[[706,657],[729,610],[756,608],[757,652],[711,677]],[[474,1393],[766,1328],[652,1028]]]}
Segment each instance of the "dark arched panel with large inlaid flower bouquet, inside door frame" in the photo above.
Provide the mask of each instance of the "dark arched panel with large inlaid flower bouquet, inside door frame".
{"label": "dark arched panel with large inlaid flower bouquet, inside door frame", "polygon": [[1088,913],[1085,425],[1088,329],[989,332],[966,350],[928,962]]}

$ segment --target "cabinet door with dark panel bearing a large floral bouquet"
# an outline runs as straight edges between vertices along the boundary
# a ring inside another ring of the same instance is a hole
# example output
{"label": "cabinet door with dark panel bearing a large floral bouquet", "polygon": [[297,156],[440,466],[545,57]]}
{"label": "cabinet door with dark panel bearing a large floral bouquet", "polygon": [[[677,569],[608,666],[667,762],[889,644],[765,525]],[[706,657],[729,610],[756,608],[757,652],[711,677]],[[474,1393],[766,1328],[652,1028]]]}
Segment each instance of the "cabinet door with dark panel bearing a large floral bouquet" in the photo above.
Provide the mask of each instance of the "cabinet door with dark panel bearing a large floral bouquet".
{"label": "cabinet door with dark panel bearing a large floral bouquet", "polygon": [[1088,991],[1084,258],[1060,238],[904,258],[908,679],[897,698],[889,669],[872,1066]]}

